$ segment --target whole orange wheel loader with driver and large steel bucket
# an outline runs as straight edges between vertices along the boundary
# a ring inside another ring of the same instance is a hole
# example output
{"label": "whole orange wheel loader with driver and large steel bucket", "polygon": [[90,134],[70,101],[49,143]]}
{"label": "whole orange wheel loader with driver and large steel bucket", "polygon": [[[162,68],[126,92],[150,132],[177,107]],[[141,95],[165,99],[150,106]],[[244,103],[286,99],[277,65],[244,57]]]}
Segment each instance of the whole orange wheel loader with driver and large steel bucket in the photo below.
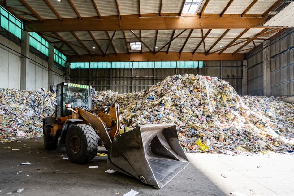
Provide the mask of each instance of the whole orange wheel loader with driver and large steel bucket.
{"label": "whole orange wheel loader with driver and large steel bucket", "polygon": [[56,92],[56,109],[55,117],[43,119],[46,150],[55,149],[59,142],[72,162],[86,163],[96,156],[102,141],[108,149],[109,168],[157,189],[190,163],[175,124],[139,125],[119,134],[118,104],[92,108],[92,86],[62,82],[50,90]]}

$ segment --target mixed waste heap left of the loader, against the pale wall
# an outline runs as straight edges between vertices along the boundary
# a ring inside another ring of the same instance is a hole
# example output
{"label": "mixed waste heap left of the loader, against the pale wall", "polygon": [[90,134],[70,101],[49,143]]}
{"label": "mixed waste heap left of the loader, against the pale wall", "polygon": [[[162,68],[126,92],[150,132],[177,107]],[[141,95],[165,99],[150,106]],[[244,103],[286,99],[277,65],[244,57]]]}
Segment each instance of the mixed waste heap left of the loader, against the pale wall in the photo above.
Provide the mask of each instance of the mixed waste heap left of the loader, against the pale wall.
{"label": "mixed waste heap left of the loader, against the pale wall", "polygon": [[55,98],[42,88],[0,89],[0,142],[43,137],[42,118],[54,112]]}

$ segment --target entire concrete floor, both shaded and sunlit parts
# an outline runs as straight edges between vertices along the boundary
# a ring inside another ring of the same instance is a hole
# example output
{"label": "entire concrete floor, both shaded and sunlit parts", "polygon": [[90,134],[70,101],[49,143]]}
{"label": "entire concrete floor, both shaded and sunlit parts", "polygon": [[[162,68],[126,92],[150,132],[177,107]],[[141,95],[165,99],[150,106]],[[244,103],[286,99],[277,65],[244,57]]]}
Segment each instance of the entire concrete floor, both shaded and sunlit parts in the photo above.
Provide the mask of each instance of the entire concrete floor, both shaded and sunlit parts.
{"label": "entire concrete floor, both shaded and sunlit parts", "polygon": [[[5,148],[11,146],[20,150]],[[106,173],[106,157],[78,165],[62,159],[67,156],[62,146],[45,151],[42,138],[0,142],[0,195],[108,196],[131,189],[139,192],[137,196],[228,196],[233,191],[247,196],[294,195],[292,155],[187,155],[191,161],[188,167],[158,190],[119,172]],[[19,165],[24,162],[32,164]],[[88,168],[95,165],[98,168]],[[17,193],[21,188],[24,190]]]}

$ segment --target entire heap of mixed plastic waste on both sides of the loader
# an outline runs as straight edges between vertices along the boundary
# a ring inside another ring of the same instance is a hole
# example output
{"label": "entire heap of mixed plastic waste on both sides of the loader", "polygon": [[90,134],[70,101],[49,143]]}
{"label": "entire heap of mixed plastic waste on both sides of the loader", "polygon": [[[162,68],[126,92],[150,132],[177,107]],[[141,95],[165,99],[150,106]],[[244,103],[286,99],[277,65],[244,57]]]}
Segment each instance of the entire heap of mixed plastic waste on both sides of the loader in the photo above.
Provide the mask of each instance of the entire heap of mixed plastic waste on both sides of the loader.
{"label": "entire heap of mixed plastic waste on both sides of the loader", "polygon": [[[95,107],[119,103],[121,133],[140,124],[175,123],[186,152],[294,152],[294,104],[239,97],[216,77],[174,75],[141,92],[97,92],[94,101]],[[54,110],[55,98],[42,89],[0,89],[0,142],[42,137],[42,118]]]}

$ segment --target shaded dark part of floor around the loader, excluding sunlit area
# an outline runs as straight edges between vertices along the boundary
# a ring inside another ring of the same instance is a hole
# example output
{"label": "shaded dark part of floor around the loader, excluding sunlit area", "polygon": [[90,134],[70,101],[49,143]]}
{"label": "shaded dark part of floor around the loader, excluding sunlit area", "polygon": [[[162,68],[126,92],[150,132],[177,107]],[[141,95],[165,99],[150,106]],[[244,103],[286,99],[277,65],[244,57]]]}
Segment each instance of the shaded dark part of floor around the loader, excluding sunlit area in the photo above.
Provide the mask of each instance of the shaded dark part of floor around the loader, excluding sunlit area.
{"label": "shaded dark part of floor around the loader, excluding sunlit area", "polygon": [[[80,165],[63,159],[67,157],[63,146],[58,146],[56,150],[45,151],[40,138],[37,141],[11,142],[9,146],[18,147],[23,146],[24,143],[27,144],[27,147],[30,146],[31,149],[34,149],[31,150],[32,153],[19,152],[15,156],[14,153],[5,151],[0,145],[1,163],[3,163],[0,167],[0,175],[5,176],[7,180],[0,180],[0,188],[9,187],[9,181],[12,181],[15,182],[15,187],[22,186],[25,189],[40,190],[42,195],[123,195],[131,189],[146,196],[227,195],[192,163],[165,187],[155,189],[132,176],[120,172],[105,172],[109,169],[107,156],[98,156],[89,163]],[[105,149],[98,150],[100,153],[107,153]],[[19,163],[26,161],[32,162],[32,164],[19,166]],[[11,166],[15,167],[11,168]],[[98,168],[89,168],[89,166],[98,166]],[[15,174],[18,171],[28,173],[30,176],[26,176],[22,180],[20,175]],[[53,189],[54,187],[55,189]],[[5,191],[9,192],[9,189],[7,188]],[[118,192],[119,194],[116,194]]]}

